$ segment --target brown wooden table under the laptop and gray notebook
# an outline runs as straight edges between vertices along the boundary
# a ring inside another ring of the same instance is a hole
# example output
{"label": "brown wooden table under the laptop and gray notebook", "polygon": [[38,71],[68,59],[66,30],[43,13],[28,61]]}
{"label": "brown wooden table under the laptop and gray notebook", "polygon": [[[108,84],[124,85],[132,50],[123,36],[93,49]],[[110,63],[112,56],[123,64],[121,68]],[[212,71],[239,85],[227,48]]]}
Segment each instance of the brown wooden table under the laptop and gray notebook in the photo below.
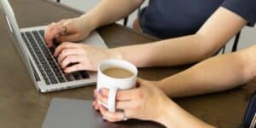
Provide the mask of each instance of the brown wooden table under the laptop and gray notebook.
{"label": "brown wooden table under the laptop and gray notebook", "polygon": [[[72,18],[80,12],[42,0],[10,0],[20,27],[42,26],[52,21]],[[41,94],[35,89],[26,67],[20,60],[9,38],[7,25],[0,18],[0,127],[36,128],[42,125],[44,115],[53,97],[93,100],[95,85],[73,90]],[[111,25],[98,29],[110,48],[128,44],[143,44],[154,38]],[[186,67],[141,68],[144,79],[163,79]],[[218,78],[217,78],[218,79]],[[185,80],[185,79],[184,79]],[[175,99],[189,113],[217,127],[238,127],[246,107],[245,93],[240,88],[204,96]],[[168,111],[168,110],[166,110]]]}

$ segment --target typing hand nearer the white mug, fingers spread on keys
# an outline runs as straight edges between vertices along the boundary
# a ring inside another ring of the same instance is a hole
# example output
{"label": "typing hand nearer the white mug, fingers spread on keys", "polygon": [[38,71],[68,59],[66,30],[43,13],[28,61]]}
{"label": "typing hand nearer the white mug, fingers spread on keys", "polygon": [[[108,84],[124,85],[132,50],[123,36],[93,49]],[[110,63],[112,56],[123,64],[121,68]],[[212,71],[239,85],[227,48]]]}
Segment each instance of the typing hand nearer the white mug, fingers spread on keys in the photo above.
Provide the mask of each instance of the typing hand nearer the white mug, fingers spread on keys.
{"label": "typing hand nearer the white mug, fingers spread on keys", "polygon": [[[62,43],[54,53],[65,73],[80,70],[96,71],[98,64],[107,59],[121,59],[112,49],[100,49],[86,44]],[[70,64],[73,64],[70,66]]]}

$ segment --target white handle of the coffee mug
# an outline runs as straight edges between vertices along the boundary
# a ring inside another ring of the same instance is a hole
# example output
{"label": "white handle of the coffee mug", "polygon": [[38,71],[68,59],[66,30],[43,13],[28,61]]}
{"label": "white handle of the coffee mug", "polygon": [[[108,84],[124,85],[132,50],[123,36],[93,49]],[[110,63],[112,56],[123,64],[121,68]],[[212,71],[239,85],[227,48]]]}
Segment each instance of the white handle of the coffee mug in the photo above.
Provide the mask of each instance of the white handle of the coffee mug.
{"label": "white handle of the coffee mug", "polygon": [[116,96],[117,88],[109,89],[108,93],[108,111],[115,112],[115,96]]}

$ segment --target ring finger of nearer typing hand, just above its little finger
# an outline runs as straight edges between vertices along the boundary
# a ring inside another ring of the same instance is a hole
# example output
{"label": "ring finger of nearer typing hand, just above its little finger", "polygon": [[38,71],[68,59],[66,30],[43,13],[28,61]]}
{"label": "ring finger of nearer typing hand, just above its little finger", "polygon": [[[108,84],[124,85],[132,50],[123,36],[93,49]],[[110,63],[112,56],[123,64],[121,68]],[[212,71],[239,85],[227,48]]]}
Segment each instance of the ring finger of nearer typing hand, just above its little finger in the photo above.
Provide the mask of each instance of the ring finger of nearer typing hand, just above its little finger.
{"label": "ring finger of nearer typing hand, just above its little finger", "polygon": [[[61,68],[65,69],[71,63],[79,63],[81,61],[81,57],[79,55],[67,55],[66,58],[61,62]],[[73,65],[76,66],[77,64]],[[71,66],[71,67],[73,67]],[[80,67],[79,67],[80,68]]]}

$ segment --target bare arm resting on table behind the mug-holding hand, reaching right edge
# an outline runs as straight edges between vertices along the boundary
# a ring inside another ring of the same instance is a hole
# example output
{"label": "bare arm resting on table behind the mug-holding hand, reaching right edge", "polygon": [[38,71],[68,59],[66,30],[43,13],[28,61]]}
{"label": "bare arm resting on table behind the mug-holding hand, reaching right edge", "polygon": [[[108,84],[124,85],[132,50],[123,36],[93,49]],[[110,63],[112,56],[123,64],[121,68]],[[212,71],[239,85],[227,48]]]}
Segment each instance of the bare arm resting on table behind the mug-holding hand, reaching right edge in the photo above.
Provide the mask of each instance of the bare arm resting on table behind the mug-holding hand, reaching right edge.
{"label": "bare arm resting on table behind the mug-holding hand, reaching right edge", "polygon": [[256,75],[256,45],[229,55],[218,55],[159,82],[168,96],[193,96],[228,90]]}

